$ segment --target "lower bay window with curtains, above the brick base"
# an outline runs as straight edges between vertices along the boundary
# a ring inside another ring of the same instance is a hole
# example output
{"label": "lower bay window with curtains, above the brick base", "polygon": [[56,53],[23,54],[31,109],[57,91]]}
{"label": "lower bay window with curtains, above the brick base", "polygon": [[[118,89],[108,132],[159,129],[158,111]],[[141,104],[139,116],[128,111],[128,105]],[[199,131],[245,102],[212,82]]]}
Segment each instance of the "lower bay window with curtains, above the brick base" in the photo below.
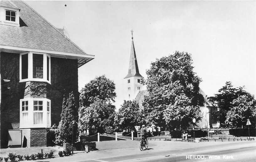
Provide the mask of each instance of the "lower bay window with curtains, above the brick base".
{"label": "lower bay window with curtains, above the brick base", "polygon": [[20,99],[20,128],[42,128],[51,126],[51,100]]}

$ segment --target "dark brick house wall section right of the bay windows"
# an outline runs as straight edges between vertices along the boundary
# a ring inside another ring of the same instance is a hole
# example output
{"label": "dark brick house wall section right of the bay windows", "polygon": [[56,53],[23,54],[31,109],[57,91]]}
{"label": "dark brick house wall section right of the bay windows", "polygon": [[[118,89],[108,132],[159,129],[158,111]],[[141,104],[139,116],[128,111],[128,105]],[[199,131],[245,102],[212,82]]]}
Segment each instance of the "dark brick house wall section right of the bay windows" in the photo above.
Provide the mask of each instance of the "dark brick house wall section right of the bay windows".
{"label": "dark brick house wall section right of the bay windows", "polygon": [[47,86],[47,98],[51,99],[51,125],[59,124],[63,95],[73,91],[78,109],[77,60],[51,57],[51,85]]}

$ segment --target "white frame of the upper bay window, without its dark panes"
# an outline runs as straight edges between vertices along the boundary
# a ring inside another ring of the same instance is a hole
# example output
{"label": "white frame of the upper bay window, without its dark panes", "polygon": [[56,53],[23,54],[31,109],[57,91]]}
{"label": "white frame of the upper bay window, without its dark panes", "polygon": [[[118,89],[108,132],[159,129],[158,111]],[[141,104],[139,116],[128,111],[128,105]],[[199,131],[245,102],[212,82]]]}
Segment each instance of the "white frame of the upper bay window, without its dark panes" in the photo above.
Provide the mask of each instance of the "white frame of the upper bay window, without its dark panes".
{"label": "white frame of the upper bay window, without its dark panes", "polygon": [[[28,78],[22,79],[22,60],[21,56],[28,54]],[[33,54],[42,54],[43,55],[43,78],[33,78]],[[49,58],[49,80],[47,80],[47,57]],[[38,81],[38,82],[47,82],[51,84],[51,55],[47,53],[39,52],[24,52],[19,55],[19,82],[28,82],[28,81]]]}

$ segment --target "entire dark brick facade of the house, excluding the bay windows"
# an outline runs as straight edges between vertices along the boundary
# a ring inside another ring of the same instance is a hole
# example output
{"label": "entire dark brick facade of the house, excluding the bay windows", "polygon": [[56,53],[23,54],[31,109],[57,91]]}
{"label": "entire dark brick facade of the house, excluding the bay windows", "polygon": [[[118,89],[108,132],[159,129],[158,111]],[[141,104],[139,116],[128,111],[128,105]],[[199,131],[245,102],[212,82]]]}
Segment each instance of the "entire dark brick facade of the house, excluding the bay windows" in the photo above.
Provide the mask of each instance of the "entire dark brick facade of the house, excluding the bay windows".
{"label": "entire dark brick facade of the house, excluding the bay windows", "polygon": [[[45,85],[46,92],[44,94],[30,95],[30,93],[28,94],[27,92],[31,91],[31,89],[27,89],[27,86],[32,82],[19,83],[19,53],[1,52],[0,54],[1,77],[10,80],[8,87],[11,88],[5,92],[1,92],[1,148],[6,148],[8,145],[8,129],[19,129],[19,100],[23,99],[24,95],[25,97],[46,97],[51,99],[51,125],[58,124],[60,121],[64,94],[67,96],[71,91],[73,91],[78,109],[79,94],[77,60],[51,57],[51,84]],[[31,132],[32,134],[38,133],[32,129]],[[43,135],[43,137],[45,137],[46,146],[46,135]],[[34,147],[35,144],[37,144],[35,139],[36,136],[33,135],[32,137],[31,135],[31,147]],[[38,144],[44,145],[40,142]]]}

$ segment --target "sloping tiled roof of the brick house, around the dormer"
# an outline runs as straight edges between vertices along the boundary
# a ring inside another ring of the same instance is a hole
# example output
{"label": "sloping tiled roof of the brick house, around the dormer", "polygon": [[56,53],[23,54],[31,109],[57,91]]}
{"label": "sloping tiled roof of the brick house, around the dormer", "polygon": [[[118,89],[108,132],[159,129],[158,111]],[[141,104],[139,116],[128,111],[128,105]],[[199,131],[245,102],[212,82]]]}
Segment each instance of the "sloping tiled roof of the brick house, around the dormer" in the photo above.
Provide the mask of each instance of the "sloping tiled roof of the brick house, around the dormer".
{"label": "sloping tiled roof of the brick house, around the dormer", "polygon": [[[1,4],[7,5],[8,1],[1,1]],[[1,45],[86,54],[28,4],[23,1],[11,1],[9,4],[20,9],[20,22],[24,24],[21,27],[0,24]]]}

